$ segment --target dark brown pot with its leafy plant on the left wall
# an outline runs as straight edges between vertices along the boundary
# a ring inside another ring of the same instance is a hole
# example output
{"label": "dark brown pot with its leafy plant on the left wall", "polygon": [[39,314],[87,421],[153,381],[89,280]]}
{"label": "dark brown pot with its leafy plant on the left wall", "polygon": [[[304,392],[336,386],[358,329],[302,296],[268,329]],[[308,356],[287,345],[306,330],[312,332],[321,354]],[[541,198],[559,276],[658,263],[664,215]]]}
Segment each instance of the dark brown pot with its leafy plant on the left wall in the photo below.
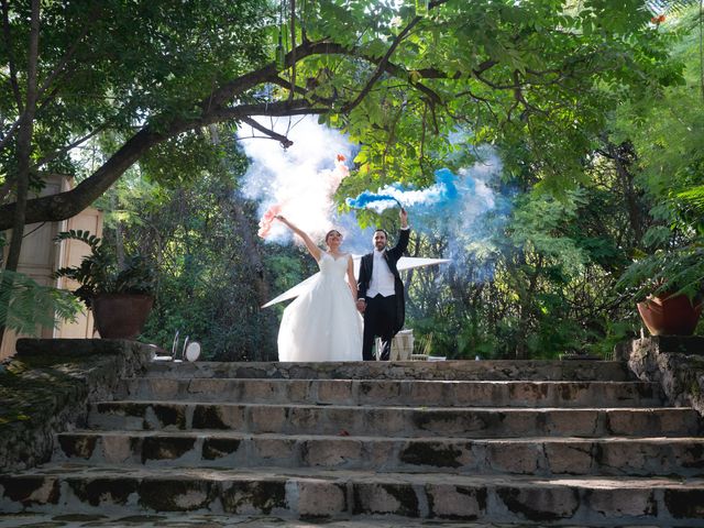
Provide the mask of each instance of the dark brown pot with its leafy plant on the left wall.
{"label": "dark brown pot with its leafy plant on the left wall", "polygon": [[55,240],[78,240],[90,246],[90,254],[80,265],[62,267],[54,276],[80,285],[74,295],[92,309],[100,337],[134,339],[139,336],[154,305],[152,265],[142,255],[127,256],[119,264],[110,248],[88,231],[63,231]]}

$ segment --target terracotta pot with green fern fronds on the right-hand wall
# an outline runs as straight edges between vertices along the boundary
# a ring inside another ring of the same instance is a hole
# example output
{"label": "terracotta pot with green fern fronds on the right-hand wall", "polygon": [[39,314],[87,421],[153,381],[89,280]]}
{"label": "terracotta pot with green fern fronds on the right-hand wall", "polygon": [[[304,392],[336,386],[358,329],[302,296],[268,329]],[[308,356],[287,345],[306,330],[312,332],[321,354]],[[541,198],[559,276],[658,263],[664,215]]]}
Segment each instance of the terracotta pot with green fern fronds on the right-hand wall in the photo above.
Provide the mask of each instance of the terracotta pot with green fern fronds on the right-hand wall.
{"label": "terracotta pot with green fern fronds on the right-hand wall", "polygon": [[691,336],[704,306],[704,241],[637,260],[618,286],[630,289],[652,336]]}

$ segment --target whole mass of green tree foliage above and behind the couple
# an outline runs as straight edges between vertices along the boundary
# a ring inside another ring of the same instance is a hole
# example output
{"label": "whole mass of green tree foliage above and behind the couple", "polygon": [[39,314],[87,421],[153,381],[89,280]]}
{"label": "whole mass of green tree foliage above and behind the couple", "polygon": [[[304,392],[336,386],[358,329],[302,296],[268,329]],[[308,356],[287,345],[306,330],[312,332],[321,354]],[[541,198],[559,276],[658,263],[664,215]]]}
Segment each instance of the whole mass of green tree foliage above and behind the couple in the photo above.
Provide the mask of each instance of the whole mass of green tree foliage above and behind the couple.
{"label": "whole mass of green tree foliage above and behind the couple", "polygon": [[[627,311],[613,295],[632,255],[675,248],[668,255],[689,267],[674,276],[682,287],[694,284],[704,231],[704,114],[692,11],[673,9],[672,20],[669,13],[667,23],[653,24],[637,0],[449,0],[420,20],[408,2],[297,4],[297,42],[305,30],[318,47],[298,58],[298,102],[288,108],[310,105],[321,122],[361,145],[339,197],[389,182],[429,185],[437,168],[469,166],[473,145],[501,151],[515,195],[509,222],[491,235],[450,241],[431,232],[415,242],[424,256],[463,250],[447,272],[409,274],[409,322],[420,345],[448,358],[604,352],[600,342],[632,330],[614,322]],[[286,289],[311,271],[297,250],[253,240],[253,206],[235,193],[246,164],[233,146],[238,123],[210,125],[226,119],[217,112],[245,118],[237,113],[242,105],[268,109],[289,99],[293,70],[282,67],[217,100],[235,79],[274,68],[278,31],[290,46],[290,28],[276,23],[275,7],[42,4],[43,75],[77,46],[40,102],[35,168],[88,183],[110,155],[139,143],[135,127],[162,134],[100,199],[106,241],[81,235],[95,244],[92,261],[63,271],[116,283],[107,274],[118,273],[112,252],[122,238],[129,252],[147,255],[157,302],[145,336],[162,345],[178,329],[210,358],[266,359],[275,350],[275,311],[258,306],[270,287]],[[11,2],[10,10],[12,42],[0,46],[0,64],[12,51],[24,65],[28,7]],[[19,116],[11,85],[3,86],[2,135]],[[63,152],[98,129],[92,154]],[[10,141],[0,151],[0,177],[13,174],[14,154]],[[34,184],[41,187],[38,174]],[[377,221],[370,212],[360,219]]]}

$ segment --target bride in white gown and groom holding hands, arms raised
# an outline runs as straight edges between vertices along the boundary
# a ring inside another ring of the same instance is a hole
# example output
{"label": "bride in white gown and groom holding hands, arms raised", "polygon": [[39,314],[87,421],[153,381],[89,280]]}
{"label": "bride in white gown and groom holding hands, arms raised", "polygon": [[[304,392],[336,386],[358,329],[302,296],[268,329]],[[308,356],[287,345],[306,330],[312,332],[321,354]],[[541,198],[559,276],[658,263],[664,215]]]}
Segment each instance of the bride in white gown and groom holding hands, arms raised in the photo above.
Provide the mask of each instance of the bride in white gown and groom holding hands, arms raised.
{"label": "bride in white gown and groom holding hands, arms raised", "polygon": [[[286,309],[278,330],[278,361],[372,361],[374,339],[382,338],[381,359],[388,360],[392,340],[404,326],[404,284],[396,263],[408,248],[408,215],[402,209],[400,233],[394,248],[388,235],[374,231],[374,250],[362,257],[359,280],[350,253],[340,249],[342,234],[326,234],[328,251],[278,215],[306,244],[320,274],[312,286]],[[346,275],[346,285],[344,278]]]}

